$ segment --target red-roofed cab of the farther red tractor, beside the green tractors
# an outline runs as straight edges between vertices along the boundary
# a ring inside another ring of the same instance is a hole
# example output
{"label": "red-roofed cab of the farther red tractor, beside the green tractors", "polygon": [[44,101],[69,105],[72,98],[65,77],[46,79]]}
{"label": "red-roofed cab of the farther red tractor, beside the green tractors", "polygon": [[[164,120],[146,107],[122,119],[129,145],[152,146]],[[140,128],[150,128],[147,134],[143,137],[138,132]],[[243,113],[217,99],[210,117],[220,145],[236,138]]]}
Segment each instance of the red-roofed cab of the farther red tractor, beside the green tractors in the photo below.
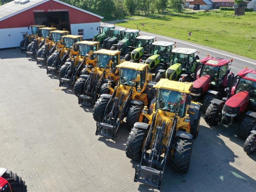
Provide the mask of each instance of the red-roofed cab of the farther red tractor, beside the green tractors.
{"label": "red-roofed cab of the farther red tractor, beside the green tractors", "polygon": [[201,60],[201,63],[198,64],[197,78],[205,75],[211,76],[211,84],[213,86],[219,87],[221,84],[227,87],[227,75],[230,72],[228,68],[231,65],[233,59],[226,60],[219,57],[205,57]]}

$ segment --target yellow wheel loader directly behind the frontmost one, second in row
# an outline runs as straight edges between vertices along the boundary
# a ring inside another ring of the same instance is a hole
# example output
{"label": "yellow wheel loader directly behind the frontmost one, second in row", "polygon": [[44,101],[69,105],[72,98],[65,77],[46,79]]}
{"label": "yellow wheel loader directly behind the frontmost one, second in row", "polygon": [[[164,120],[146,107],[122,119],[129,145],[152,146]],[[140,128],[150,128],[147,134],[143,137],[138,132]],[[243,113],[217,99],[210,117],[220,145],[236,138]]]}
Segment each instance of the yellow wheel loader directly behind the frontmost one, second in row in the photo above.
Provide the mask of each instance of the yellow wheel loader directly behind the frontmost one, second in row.
{"label": "yellow wheel loader directly behind the frontmost one, second in row", "polygon": [[153,84],[149,81],[152,75],[148,73],[145,63],[125,61],[116,66],[119,70],[119,83],[111,94],[102,94],[94,105],[93,118],[97,121],[96,135],[115,139],[117,132],[124,123],[129,128],[139,121],[143,106],[147,106],[154,94]]}

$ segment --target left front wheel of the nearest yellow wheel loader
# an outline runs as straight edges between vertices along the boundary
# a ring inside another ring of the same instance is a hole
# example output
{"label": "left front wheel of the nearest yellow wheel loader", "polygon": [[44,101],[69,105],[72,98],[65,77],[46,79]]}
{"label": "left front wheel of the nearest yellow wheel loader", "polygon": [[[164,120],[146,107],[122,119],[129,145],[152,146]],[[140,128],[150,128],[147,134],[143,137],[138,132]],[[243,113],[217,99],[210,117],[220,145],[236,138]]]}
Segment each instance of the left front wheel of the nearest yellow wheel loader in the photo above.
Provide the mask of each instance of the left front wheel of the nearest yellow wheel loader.
{"label": "left front wheel of the nearest yellow wheel loader", "polygon": [[134,161],[140,161],[143,142],[147,137],[147,130],[133,127],[127,138],[125,154]]}

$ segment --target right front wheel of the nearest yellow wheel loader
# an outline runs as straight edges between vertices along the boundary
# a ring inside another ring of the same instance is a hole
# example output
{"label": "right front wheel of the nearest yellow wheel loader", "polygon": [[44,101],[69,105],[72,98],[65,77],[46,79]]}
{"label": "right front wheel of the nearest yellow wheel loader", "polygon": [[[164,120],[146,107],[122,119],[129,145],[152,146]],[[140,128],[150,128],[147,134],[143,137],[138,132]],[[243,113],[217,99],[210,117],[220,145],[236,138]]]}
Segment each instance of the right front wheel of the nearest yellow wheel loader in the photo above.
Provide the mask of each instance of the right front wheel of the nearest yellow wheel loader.
{"label": "right front wheel of the nearest yellow wheel loader", "polygon": [[177,138],[172,156],[172,169],[179,173],[187,173],[192,153],[192,140]]}

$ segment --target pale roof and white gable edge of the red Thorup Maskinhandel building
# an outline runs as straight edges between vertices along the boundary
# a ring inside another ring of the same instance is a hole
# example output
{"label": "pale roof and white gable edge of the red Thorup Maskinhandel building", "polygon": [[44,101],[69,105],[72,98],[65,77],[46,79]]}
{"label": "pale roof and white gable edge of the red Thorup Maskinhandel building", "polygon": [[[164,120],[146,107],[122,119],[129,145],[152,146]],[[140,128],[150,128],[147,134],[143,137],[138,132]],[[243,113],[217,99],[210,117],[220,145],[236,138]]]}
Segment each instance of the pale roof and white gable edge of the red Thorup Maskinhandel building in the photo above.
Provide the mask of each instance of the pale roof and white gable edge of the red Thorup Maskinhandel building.
{"label": "pale roof and white gable edge of the red Thorup Maskinhandel building", "polygon": [[[9,3],[6,3],[4,5],[1,5],[0,6],[0,21],[1,20],[4,20],[4,19],[7,19],[13,15],[16,15],[20,12],[24,12],[30,8],[33,8],[37,5],[40,5],[40,4],[43,4],[47,1],[50,1],[50,0],[30,0],[28,3],[26,4],[20,4],[20,3],[14,3],[14,1],[11,1]],[[77,9],[77,10],[80,10],[82,12],[86,12],[88,14],[91,14],[91,15],[94,15],[96,17],[99,17],[100,19],[103,19],[104,17],[101,17],[100,15],[96,15],[92,12],[88,12],[88,11],[85,11],[83,9],[80,9],[78,7],[75,7],[73,5],[70,5],[70,4],[67,4],[67,3],[64,3],[62,1],[58,1],[58,0],[53,0],[55,2],[58,2],[60,4],[64,4],[64,5],[67,5],[69,7],[72,7],[74,9]]]}

